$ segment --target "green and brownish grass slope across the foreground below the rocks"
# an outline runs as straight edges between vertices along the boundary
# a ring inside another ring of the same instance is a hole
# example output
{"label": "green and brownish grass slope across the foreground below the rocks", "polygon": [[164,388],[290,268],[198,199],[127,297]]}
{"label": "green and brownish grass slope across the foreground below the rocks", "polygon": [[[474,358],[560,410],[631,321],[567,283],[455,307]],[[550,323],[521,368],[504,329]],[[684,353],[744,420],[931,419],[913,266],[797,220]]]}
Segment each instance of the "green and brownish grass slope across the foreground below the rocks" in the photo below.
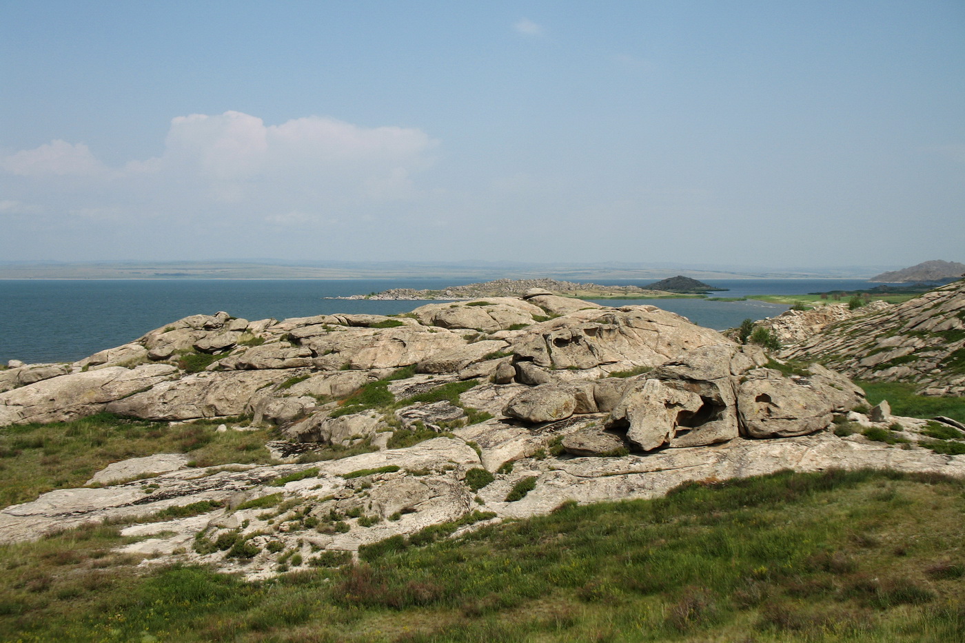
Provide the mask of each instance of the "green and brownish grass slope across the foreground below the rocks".
{"label": "green and brownish grass slope across the foreground below the rocks", "polygon": [[945,643],[965,639],[963,490],[872,471],[689,484],[455,539],[437,525],[253,583],[132,573],[100,553],[124,539],[92,527],[0,547],[0,638]]}

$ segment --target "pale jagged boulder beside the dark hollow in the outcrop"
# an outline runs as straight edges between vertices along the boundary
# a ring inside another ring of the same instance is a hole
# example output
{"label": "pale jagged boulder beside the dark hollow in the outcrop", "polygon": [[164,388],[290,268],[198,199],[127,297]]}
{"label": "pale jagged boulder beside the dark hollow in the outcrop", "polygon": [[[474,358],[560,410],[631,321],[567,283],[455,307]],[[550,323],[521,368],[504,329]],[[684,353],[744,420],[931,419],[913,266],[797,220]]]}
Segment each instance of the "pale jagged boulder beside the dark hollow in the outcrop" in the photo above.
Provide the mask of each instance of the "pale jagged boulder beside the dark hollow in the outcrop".
{"label": "pale jagged boulder beside the dark hollow in the outcrop", "polygon": [[668,444],[677,428],[685,427],[683,423],[702,405],[695,393],[677,390],[658,379],[636,379],[610,412],[606,426],[612,430],[625,427],[628,440],[652,451]]}

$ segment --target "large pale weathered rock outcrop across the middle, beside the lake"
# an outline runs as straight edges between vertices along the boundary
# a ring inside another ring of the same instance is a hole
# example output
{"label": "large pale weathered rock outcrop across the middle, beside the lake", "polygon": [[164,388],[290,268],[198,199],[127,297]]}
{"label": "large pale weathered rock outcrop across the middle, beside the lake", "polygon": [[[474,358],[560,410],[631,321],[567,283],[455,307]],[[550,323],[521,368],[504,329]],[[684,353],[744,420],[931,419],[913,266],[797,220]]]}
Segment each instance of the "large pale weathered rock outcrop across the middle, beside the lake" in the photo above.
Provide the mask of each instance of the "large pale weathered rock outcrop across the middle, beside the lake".
{"label": "large pale weathered rock outcrop across the middle, beside the lake", "polygon": [[[12,366],[0,372],[0,427],[106,410],[225,418],[226,431],[273,426],[282,439],[273,464],[111,464],[87,487],[0,511],[0,541],[124,519],[141,539],[126,551],[151,556],[143,565],[208,562],[251,578],[427,527],[458,534],[686,481],[864,466],[965,475],[965,457],[915,446],[922,421],[901,419],[906,449],[832,433],[863,393],[818,364],[785,375],[762,349],[656,307],[539,290],[401,317],[198,315],[74,364]],[[397,436],[415,443],[391,448]],[[311,461],[322,445],[371,451]],[[524,483],[532,490],[513,493]]]}

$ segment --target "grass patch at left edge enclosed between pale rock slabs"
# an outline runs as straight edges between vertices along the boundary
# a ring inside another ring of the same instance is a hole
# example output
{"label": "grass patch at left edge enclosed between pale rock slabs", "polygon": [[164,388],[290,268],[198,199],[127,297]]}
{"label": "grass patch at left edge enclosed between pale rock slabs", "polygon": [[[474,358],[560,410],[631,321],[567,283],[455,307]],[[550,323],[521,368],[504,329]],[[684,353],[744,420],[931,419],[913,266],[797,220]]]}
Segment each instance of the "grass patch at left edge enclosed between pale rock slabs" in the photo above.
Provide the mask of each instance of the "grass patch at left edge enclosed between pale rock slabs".
{"label": "grass patch at left edge enclosed between pale rock slabs", "polygon": [[[72,422],[25,424],[0,433],[0,506],[52,489],[81,487],[111,462],[184,453],[197,466],[271,461],[266,430],[217,433],[224,420],[169,427],[98,413]],[[213,426],[212,426],[213,425]]]}

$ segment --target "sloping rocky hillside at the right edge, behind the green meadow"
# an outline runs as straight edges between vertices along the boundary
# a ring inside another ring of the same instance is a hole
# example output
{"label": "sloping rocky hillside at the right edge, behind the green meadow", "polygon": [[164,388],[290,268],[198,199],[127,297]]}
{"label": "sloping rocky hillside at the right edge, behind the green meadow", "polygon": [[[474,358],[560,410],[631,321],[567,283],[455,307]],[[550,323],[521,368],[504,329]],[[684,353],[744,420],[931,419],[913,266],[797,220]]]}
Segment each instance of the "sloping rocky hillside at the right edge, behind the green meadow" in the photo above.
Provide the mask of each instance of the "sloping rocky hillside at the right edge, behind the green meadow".
{"label": "sloping rocky hillside at the right edge, behind the green meadow", "polygon": [[[814,323],[782,330],[800,320]],[[924,395],[965,395],[965,280],[894,306],[829,305],[767,323],[796,340],[782,349],[785,358],[820,360],[848,377],[915,382]]]}

